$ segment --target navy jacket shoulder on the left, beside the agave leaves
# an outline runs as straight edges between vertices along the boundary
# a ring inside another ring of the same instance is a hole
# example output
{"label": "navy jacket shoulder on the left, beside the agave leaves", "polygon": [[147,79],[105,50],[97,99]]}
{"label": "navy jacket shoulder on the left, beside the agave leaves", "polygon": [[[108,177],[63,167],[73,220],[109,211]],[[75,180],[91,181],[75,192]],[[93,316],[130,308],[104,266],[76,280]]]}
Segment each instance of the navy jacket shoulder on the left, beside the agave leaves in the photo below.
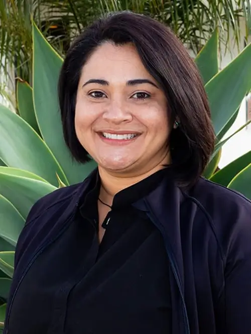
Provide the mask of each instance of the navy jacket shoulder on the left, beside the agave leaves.
{"label": "navy jacket shoulder on the left, beside the agave leaves", "polygon": [[[88,177],[81,183],[59,188],[40,198],[31,208],[18,239],[15,268],[20,258],[29,258],[41,244],[54,237],[75,212],[84,196]],[[53,234],[54,233],[54,234]]]}

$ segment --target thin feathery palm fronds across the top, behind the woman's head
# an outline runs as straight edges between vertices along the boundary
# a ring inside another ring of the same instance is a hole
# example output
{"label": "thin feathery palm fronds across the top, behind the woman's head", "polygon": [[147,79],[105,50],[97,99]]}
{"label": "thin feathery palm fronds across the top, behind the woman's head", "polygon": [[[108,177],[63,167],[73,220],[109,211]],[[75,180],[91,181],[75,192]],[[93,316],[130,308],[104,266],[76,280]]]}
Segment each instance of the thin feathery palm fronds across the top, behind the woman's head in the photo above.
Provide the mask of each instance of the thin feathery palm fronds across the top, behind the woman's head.
{"label": "thin feathery palm fronds across the top, behind the woman's head", "polygon": [[[180,40],[195,53],[201,49],[216,27],[219,28],[220,37],[224,36],[224,47],[227,45],[225,42],[231,38],[230,31],[239,46],[240,17],[244,17],[246,22],[246,36],[248,24],[251,30],[250,4],[246,0],[2,0],[2,68],[7,72],[7,66],[11,64],[17,76],[32,84],[31,17],[49,42],[64,55],[70,41],[94,19],[103,13],[120,10],[146,14],[170,26]],[[64,26],[66,34],[55,36],[52,33],[51,27],[58,22]]]}

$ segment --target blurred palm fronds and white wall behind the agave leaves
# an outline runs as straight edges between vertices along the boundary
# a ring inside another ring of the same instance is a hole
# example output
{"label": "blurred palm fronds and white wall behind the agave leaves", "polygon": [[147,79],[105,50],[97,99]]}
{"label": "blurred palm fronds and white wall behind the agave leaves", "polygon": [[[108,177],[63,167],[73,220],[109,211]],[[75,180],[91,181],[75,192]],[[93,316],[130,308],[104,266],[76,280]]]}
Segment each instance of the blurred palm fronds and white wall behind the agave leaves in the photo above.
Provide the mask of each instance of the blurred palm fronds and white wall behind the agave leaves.
{"label": "blurred palm fronds and white wall behind the agave leaves", "polygon": [[[144,13],[167,24],[193,57],[218,28],[219,69],[251,41],[249,0],[0,0],[0,102],[16,109],[16,78],[32,86],[31,18],[64,57],[74,37],[93,19],[118,10]],[[226,136],[251,119],[248,97]],[[223,146],[220,167],[251,149],[250,127]]]}

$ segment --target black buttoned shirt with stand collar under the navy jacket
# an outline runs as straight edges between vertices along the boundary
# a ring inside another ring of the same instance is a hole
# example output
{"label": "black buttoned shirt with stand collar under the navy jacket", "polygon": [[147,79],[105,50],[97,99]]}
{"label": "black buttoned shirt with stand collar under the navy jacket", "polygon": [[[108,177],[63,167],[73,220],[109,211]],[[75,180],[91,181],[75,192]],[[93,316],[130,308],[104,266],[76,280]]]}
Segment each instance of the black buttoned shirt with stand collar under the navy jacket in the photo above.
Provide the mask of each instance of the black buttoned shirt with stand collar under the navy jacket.
{"label": "black buttoned shirt with stand collar under the navy jacket", "polygon": [[100,245],[97,175],[70,227],[24,277],[10,314],[10,334],[171,332],[164,241],[146,214],[132,205],[153,190],[165,172],[114,196]]}

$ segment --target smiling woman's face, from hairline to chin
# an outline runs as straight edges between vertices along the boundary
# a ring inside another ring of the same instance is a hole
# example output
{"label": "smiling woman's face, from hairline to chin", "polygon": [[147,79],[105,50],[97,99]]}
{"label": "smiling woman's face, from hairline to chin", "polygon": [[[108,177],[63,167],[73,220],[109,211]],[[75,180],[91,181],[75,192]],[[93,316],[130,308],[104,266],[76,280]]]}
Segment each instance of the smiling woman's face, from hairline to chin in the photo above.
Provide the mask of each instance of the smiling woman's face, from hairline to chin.
{"label": "smiling woman's face, from hairline to chin", "polygon": [[167,100],[133,45],[106,42],[84,65],[75,129],[99,168],[131,174],[169,163]]}

